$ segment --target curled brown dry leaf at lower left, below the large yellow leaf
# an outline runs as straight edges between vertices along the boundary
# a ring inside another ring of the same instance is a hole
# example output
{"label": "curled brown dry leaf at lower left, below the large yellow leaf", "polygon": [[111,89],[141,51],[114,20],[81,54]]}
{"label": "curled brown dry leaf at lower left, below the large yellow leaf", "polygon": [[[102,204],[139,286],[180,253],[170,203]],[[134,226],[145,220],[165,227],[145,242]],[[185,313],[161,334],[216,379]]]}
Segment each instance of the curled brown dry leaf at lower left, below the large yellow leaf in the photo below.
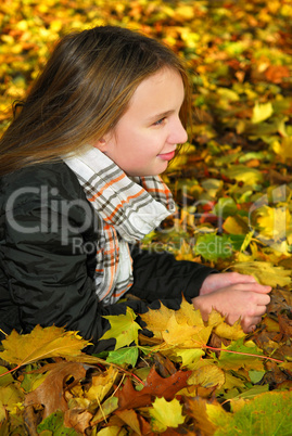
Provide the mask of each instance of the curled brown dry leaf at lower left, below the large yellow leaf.
{"label": "curled brown dry leaf at lower left, below the large yellow leaf", "polygon": [[66,380],[74,377],[75,382],[79,382],[85,375],[86,369],[81,363],[60,362],[54,364],[54,369],[49,372],[41,385],[26,396],[24,406],[42,405],[45,407],[43,418],[56,410],[65,412],[68,409],[64,398]]}

